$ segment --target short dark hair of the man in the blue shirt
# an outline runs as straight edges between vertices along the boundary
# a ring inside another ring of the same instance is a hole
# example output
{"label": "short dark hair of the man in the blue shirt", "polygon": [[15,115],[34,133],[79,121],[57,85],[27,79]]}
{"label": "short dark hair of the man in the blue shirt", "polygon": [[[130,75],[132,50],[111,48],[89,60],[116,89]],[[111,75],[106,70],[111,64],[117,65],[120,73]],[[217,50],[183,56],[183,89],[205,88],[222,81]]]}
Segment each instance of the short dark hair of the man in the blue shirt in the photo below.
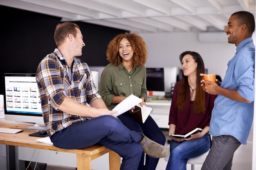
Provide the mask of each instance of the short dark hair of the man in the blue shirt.
{"label": "short dark hair of the man in the blue shirt", "polygon": [[255,30],[255,20],[254,15],[248,11],[238,11],[233,13],[231,16],[236,15],[238,18],[238,24],[246,24],[248,28],[248,33],[252,35]]}

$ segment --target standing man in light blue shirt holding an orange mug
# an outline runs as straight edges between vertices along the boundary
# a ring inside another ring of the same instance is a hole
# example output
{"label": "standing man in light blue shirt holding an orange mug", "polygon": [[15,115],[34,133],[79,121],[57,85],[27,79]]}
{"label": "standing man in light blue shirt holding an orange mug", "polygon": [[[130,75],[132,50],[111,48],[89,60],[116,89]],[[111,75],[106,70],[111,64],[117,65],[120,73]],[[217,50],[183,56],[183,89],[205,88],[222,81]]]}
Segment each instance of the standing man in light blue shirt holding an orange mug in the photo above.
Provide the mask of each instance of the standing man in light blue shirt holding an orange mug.
{"label": "standing man in light blue shirt holding an orange mug", "polygon": [[235,151],[241,144],[247,144],[254,114],[254,30],[252,13],[233,13],[225,33],[228,42],[236,45],[236,54],[227,64],[221,85],[218,81],[202,81],[209,83],[203,85],[205,92],[218,97],[210,123],[213,142],[201,170],[231,170]]}

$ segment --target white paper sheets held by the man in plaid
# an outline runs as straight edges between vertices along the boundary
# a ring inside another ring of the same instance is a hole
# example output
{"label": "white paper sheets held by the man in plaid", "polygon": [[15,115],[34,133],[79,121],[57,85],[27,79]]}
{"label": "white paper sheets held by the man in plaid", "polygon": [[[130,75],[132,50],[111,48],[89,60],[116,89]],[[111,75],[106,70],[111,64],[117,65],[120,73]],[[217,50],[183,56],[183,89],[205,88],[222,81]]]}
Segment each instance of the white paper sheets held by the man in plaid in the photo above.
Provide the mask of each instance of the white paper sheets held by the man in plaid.
{"label": "white paper sheets held by the man in plaid", "polygon": [[124,99],[123,101],[121,101],[114,109],[112,110],[116,110],[118,111],[117,113],[115,113],[115,116],[119,116],[122,113],[130,110],[132,107],[134,107],[135,105],[139,104],[140,102],[142,102],[141,98],[138,98],[137,96],[134,96],[133,94],[131,94],[130,96],[128,96],[126,99]]}

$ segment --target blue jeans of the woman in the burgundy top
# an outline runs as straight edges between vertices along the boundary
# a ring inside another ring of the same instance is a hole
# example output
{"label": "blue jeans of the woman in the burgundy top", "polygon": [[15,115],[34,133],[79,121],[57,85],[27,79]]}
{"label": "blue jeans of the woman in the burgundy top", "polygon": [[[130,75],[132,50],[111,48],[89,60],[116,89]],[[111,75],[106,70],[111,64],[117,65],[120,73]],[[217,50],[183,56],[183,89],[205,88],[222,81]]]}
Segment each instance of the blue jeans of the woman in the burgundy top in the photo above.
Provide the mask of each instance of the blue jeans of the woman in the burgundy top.
{"label": "blue jeans of the woman in the burgundy top", "polygon": [[186,170],[186,163],[189,158],[198,157],[206,153],[211,144],[211,137],[207,133],[203,137],[176,142],[171,140],[170,158],[166,170]]}

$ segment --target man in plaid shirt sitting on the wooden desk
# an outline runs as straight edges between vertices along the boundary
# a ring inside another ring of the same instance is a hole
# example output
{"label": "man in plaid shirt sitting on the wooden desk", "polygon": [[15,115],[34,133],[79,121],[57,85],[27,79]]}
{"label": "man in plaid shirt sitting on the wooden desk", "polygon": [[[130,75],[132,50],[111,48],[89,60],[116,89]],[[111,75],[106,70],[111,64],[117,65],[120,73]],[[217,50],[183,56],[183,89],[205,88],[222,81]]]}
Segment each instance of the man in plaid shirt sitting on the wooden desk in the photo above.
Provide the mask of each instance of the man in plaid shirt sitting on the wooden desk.
{"label": "man in plaid shirt sitting on the wooden desk", "polygon": [[121,170],[136,170],[142,151],[152,157],[167,156],[167,148],[130,131],[113,115],[117,111],[107,109],[88,65],[76,58],[85,46],[79,26],[58,24],[54,40],[58,48],[39,63],[36,72],[45,127],[54,146],[106,146],[123,158]]}

